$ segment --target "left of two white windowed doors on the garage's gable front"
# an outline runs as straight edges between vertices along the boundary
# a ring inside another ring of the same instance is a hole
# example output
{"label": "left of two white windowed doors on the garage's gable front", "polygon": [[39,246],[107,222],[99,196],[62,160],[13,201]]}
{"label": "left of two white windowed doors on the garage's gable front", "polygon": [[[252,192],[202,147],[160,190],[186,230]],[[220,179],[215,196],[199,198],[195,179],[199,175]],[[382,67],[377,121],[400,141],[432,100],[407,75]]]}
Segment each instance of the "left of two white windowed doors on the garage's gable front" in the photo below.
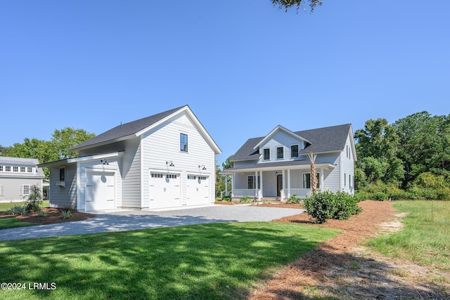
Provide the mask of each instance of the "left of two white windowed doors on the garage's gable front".
{"label": "left of two white windowed doors on the garage's gable front", "polygon": [[179,174],[150,173],[150,209],[181,206]]}

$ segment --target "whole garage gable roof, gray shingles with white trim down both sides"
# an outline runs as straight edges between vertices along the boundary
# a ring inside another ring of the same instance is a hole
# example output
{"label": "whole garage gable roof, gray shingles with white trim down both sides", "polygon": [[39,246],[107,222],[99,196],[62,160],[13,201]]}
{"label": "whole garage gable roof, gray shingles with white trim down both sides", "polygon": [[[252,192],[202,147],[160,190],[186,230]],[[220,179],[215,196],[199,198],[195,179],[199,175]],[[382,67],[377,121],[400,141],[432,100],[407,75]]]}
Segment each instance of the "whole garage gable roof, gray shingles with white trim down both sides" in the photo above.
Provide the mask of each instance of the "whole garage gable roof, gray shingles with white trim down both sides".
{"label": "whole garage gable roof, gray shingles with white trim down both sides", "polygon": [[164,122],[166,119],[169,119],[169,117],[172,117],[173,115],[176,115],[177,113],[182,111],[186,111],[188,115],[193,119],[193,122],[195,122],[195,124],[198,126],[198,129],[200,129],[200,133],[202,133],[207,142],[211,145],[214,152],[216,154],[221,153],[219,146],[214,142],[214,140],[212,140],[210,134],[207,133],[205,127],[200,123],[198,118],[195,117],[188,105],[176,107],[172,110],[160,112],[156,115],[151,115],[149,117],[138,119],[133,122],[120,124],[119,126],[115,126],[113,129],[105,131],[98,136],[94,136],[94,138],[91,138],[84,143],[76,145],[74,148],[70,149],[70,151],[83,150],[140,136],[154,126],[157,126],[161,122]]}

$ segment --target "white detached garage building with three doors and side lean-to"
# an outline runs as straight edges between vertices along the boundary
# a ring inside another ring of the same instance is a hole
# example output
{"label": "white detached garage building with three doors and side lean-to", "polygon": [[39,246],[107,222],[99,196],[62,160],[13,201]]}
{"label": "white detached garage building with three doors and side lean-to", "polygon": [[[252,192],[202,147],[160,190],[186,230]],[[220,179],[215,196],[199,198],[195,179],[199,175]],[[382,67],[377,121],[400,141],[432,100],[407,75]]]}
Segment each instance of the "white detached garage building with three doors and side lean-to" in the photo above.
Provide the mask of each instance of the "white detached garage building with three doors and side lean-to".
{"label": "white detached garage building with three doors and side lean-to", "polygon": [[169,209],[214,203],[221,153],[188,105],[120,124],[81,143],[51,169],[51,207]]}

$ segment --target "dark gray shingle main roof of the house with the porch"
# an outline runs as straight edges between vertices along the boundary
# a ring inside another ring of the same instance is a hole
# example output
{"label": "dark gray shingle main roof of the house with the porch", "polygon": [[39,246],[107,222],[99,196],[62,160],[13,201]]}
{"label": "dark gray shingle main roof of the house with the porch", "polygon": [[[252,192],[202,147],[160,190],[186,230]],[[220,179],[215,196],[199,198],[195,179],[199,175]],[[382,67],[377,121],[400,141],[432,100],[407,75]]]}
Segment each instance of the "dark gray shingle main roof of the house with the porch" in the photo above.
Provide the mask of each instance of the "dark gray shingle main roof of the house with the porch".
{"label": "dark gray shingle main roof of the house with the porch", "polygon": [[[276,129],[277,128],[278,126]],[[309,145],[299,152],[300,155],[305,155],[309,152],[323,153],[342,151],[345,148],[345,143],[347,142],[347,136],[349,133],[353,135],[351,131],[352,124],[343,124],[318,129],[295,131],[293,133],[309,142]],[[273,132],[274,131],[271,131],[271,133]],[[269,133],[269,135],[271,133]],[[249,138],[248,141],[246,141],[244,145],[242,145],[242,147],[240,147],[240,149],[233,155],[233,157],[231,157],[231,161],[259,159],[259,150],[257,146],[259,146],[259,144],[265,139],[266,136]],[[353,143],[352,147],[354,148]]]}

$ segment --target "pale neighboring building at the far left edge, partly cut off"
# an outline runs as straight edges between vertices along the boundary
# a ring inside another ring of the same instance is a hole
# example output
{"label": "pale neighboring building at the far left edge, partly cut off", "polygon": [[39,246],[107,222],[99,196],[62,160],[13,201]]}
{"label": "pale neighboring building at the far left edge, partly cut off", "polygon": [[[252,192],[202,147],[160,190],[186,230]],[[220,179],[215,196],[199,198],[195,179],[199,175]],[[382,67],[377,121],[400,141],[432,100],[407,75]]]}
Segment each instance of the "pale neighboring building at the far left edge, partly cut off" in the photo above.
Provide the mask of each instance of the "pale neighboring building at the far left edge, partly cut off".
{"label": "pale neighboring building at the far left edge, partly cut off", "polygon": [[27,200],[32,185],[42,190],[44,171],[37,167],[37,159],[0,157],[0,201]]}

